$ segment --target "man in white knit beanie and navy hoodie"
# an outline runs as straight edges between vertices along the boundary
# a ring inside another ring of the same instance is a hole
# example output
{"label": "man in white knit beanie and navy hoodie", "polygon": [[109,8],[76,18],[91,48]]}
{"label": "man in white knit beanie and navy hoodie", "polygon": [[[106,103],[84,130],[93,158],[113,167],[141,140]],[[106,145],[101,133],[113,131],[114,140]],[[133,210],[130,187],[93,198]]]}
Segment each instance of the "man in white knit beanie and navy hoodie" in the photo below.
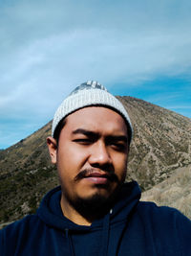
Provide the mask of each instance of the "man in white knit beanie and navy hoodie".
{"label": "man in white knit beanie and navy hoodie", "polygon": [[191,221],[124,184],[133,128],[96,81],[58,107],[47,144],[60,187],[0,233],[0,255],[191,255]]}

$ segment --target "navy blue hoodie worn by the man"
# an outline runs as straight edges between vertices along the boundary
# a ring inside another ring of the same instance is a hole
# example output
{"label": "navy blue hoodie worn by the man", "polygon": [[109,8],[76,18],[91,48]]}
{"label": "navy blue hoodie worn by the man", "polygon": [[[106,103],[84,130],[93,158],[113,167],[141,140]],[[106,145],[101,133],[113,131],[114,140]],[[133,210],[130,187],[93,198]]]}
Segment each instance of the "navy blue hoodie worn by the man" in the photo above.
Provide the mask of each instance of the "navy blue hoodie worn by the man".
{"label": "navy blue hoodie worn by the man", "polygon": [[0,255],[191,255],[191,221],[175,209],[139,201],[137,182],[124,184],[114,209],[91,226],[66,219],[60,198],[57,187],[36,215],[1,230]]}

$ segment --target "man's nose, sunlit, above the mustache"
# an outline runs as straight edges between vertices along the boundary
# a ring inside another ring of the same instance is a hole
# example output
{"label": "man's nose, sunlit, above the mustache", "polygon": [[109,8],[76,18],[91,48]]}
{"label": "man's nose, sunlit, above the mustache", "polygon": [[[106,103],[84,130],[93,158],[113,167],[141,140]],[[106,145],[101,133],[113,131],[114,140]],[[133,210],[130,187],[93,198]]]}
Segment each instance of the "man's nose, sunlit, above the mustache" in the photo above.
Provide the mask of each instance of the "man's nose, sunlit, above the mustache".
{"label": "man's nose, sunlit, above the mustache", "polygon": [[104,142],[97,141],[94,144],[91,149],[89,163],[94,167],[112,164],[112,158]]}

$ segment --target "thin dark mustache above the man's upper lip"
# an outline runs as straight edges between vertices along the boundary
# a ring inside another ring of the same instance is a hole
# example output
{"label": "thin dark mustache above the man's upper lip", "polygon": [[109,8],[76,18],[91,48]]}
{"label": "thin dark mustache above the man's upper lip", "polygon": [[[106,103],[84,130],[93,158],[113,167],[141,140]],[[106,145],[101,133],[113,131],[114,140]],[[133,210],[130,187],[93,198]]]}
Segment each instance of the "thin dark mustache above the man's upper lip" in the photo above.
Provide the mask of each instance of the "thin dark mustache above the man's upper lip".
{"label": "thin dark mustache above the man's upper lip", "polygon": [[114,172],[111,171],[97,171],[97,169],[90,168],[90,169],[84,169],[81,172],[79,172],[75,177],[74,181],[78,181],[82,178],[94,175],[94,173],[100,173],[100,175],[103,175],[110,179],[111,181],[118,181],[118,177]]}

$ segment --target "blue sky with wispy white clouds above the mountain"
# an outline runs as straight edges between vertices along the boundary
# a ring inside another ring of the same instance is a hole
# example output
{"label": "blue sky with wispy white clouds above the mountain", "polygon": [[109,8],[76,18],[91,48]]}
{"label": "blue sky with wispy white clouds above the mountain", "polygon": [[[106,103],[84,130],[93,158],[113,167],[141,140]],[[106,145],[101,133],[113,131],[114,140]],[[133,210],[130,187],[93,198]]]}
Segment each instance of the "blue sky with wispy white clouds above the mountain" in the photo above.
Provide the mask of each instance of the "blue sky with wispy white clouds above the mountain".
{"label": "blue sky with wispy white clouds above the mountain", "polygon": [[0,0],[0,149],[98,81],[191,118],[190,0]]}

